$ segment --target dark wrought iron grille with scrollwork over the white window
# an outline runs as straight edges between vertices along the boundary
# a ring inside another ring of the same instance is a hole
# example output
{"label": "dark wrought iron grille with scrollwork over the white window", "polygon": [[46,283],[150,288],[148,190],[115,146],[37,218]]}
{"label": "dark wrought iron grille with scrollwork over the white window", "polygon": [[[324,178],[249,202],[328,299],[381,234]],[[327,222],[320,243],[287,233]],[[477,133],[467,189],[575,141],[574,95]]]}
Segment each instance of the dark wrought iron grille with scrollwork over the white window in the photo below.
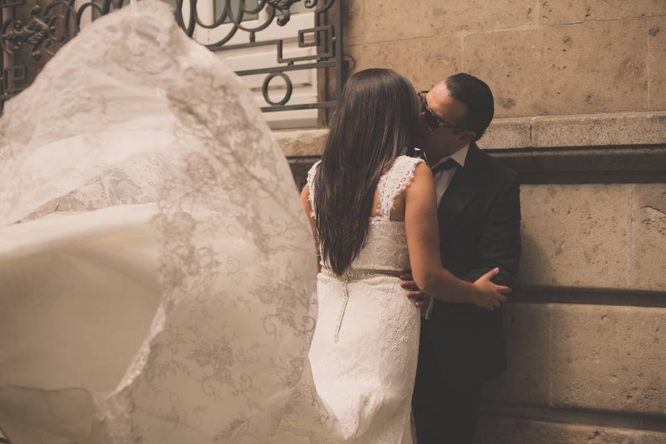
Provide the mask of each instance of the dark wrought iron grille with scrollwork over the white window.
{"label": "dark wrought iron grille with scrollwork over the white window", "polygon": [[[284,51],[286,39],[257,39],[257,34],[273,22],[285,26],[291,19],[292,6],[301,1],[302,9],[314,12],[314,26],[298,30],[296,36],[299,48],[314,49],[310,55],[287,57]],[[345,80],[343,1],[171,0],[171,4],[176,8],[178,24],[189,37],[198,40],[197,35],[203,30],[222,31],[215,41],[202,42],[211,51],[275,47],[273,66],[236,71],[239,76],[265,75],[262,94],[266,105],[262,110],[272,112],[332,108],[336,105]],[[81,26],[128,3],[126,0],[0,0],[0,114],[4,102],[28,87],[46,60],[74,37]],[[208,22],[200,13],[202,7],[215,10]],[[235,43],[243,33],[246,42]],[[331,83],[328,94],[324,94],[330,96],[329,100],[321,100],[320,96],[318,101],[312,103],[289,103],[293,92],[289,74],[305,69],[317,69],[318,73],[333,71],[335,81]],[[282,78],[286,84],[280,100],[273,100],[268,95],[268,89],[276,78]]]}

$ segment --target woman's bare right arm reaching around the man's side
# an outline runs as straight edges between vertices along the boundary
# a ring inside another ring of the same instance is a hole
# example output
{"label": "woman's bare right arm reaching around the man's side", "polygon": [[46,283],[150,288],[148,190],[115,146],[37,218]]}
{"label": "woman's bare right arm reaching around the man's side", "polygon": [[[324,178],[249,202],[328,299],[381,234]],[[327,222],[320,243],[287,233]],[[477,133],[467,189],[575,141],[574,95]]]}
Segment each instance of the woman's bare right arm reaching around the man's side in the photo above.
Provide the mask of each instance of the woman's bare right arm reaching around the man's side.
{"label": "woman's bare right arm reaching around the man's side", "polygon": [[[411,184],[404,191],[404,227],[413,280],[419,289],[433,298],[446,302],[472,302],[493,309],[506,297],[500,291],[508,287],[493,284],[490,271],[471,284],[456,278],[441,266],[437,201],[432,173],[425,164],[418,164]],[[302,200],[302,198],[301,198]]]}

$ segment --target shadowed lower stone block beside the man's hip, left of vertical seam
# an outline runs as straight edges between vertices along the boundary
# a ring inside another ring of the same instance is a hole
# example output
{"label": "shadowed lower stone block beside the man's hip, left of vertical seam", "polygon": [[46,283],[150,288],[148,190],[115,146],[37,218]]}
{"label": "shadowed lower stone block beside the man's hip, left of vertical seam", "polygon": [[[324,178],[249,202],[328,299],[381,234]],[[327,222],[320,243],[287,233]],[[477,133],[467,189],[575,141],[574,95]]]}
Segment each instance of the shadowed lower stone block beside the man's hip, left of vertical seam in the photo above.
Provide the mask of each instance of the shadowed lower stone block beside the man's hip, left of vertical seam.
{"label": "shadowed lower stone block beside the man's hip, left of vertical seam", "polygon": [[486,386],[485,399],[548,404],[551,306],[520,302],[504,305],[506,371]]}

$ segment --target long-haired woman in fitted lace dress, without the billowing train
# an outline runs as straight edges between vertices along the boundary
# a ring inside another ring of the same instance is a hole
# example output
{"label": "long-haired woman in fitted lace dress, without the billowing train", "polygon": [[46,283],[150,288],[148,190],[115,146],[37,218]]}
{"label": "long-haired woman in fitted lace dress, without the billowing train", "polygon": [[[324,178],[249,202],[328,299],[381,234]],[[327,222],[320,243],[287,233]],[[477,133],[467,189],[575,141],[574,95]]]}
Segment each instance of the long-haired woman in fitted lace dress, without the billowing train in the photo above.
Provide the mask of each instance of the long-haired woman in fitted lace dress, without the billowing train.
{"label": "long-haired woman in fitted lace dress, without the billowing train", "polygon": [[352,76],[301,193],[321,247],[309,359],[317,393],[353,438],[345,442],[411,443],[420,313],[401,271],[411,266],[425,293],[448,302],[493,309],[506,300],[506,287],[490,282],[496,271],[470,284],[441,267],[432,173],[400,155],[419,108],[394,71]]}

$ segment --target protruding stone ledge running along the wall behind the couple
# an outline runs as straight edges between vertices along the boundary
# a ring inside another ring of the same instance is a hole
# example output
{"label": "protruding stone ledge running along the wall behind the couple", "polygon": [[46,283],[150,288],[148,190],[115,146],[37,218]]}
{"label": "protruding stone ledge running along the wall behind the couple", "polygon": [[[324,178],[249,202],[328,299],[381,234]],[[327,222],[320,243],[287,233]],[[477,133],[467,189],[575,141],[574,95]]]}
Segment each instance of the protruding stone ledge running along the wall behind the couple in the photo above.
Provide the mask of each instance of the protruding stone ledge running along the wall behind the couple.
{"label": "protruding stone ledge running along the wall behind the couple", "polygon": [[[327,129],[274,133],[287,157],[321,155]],[[666,112],[495,119],[479,146],[488,150],[666,144]]]}

